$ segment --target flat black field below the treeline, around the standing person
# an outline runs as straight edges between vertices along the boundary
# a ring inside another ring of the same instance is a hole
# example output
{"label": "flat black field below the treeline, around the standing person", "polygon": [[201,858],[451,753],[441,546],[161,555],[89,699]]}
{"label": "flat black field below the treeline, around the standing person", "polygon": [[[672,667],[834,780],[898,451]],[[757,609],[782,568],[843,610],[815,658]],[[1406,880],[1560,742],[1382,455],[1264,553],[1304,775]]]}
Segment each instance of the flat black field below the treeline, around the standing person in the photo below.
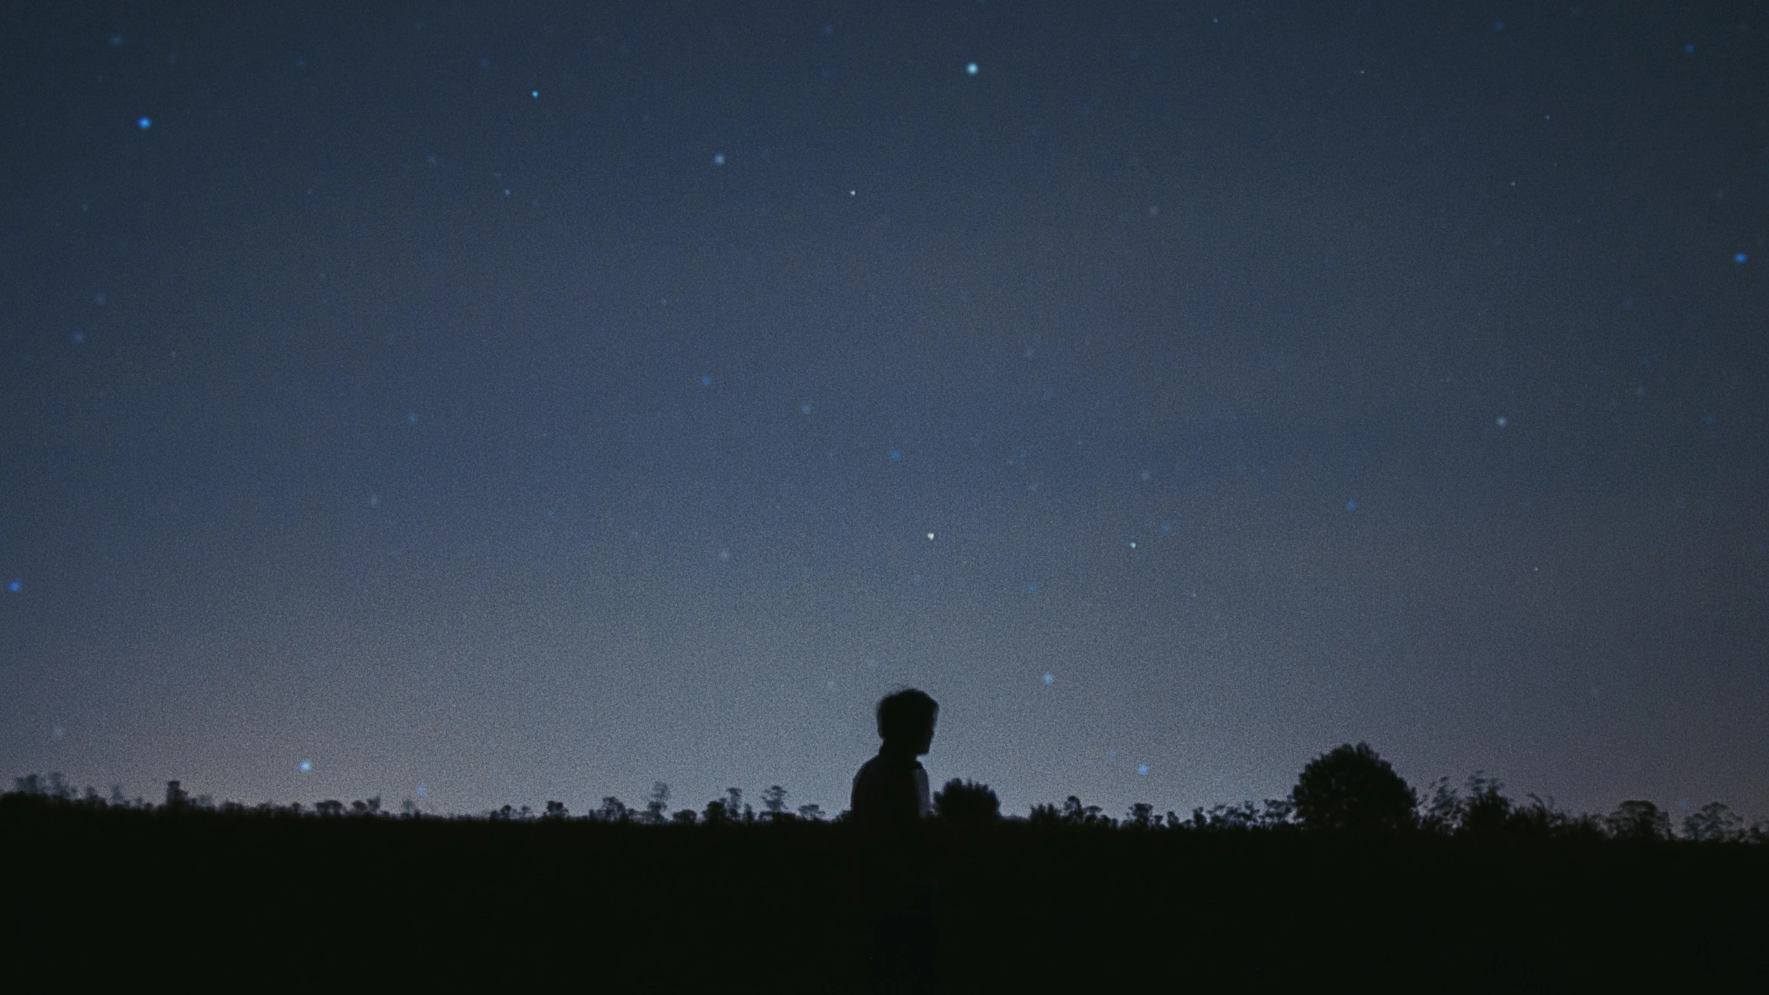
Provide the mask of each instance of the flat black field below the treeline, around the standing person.
{"label": "flat black field below the treeline, around the standing person", "polygon": [[5,795],[0,847],[16,951],[221,984],[865,991],[881,914],[902,923],[918,898],[943,991],[1705,983],[1762,970],[1769,926],[1764,845],[1008,822],[932,824],[881,848],[807,822],[315,818]]}

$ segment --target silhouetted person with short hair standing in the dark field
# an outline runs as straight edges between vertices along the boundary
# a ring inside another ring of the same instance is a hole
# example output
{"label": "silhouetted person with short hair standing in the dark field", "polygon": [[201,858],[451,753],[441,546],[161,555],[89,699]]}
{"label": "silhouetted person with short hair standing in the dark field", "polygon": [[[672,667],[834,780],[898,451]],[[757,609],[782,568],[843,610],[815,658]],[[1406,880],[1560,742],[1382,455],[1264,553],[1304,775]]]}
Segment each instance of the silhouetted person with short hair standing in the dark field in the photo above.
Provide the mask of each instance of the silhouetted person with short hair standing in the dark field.
{"label": "silhouetted person with short hair standing in the dark field", "polygon": [[922,691],[897,691],[879,702],[879,755],[854,774],[849,818],[874,832],[869,873],[874,991],[932,991],[938,933],[932,868],[916,843],[932,815],[927,771],[916,756],[934,742],[939,705]]}

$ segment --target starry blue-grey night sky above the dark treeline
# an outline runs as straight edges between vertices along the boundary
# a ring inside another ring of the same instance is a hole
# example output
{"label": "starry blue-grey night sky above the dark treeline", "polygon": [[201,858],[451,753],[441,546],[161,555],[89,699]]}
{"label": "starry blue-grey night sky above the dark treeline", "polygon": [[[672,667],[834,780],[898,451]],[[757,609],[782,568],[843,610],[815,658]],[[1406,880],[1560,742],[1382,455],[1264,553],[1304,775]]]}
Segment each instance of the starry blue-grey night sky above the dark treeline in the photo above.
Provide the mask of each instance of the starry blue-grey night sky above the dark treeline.
{"label": "starry blue-grey night sky above the dark treeline", "polygon": [[0,774],[1769,815],[1760,5],[7,5]]}

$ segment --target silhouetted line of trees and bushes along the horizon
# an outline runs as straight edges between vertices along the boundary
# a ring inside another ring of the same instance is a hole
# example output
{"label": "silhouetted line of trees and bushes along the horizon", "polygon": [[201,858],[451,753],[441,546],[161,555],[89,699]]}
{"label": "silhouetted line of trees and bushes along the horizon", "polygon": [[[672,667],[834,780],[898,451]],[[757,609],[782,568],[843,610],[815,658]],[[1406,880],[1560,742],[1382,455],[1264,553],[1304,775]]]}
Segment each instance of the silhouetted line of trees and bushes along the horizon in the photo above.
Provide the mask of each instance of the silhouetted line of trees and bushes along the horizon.
{"label": "silhouetted line of trees and bushes along the horizon", "polygon": [[[301,802],[248,806],[216,802],[209,795],[191,797],[179,781],[166,783],[165,801],[129,799],[120,788],[108,795],[87,786],[76,790],[62,774],[30,774],[14,779],[9,797],[16,801],[60,802],[88,809],[119,809],[138,813],[218,813],[257,815],[278,818],[439,818],[423,813],[414,802],[402,804],[398,815],[382,806],[380,797],[343,802],[327,799],[311,808]],[[529,820],[587,820],[632,825],[755,825],[778,822],[840,824],[846,811],[833,818],[817,804],[789,806],[791,794],[771,785],[761,792],[761,808],[743,801],[743,790],[727,788],[722,797],[701,809],[670,811],[670,788],[663,781],[653,785],[642,806],[630,806],[616,795],[582,815],[573,815],[563,802],[548,801],[545,808],[502,806],[481,815],[455,815],[446,818],[529,822]],[[941,824],[985,825],[992,822],[1024,822],[1042,827],[1083,827],[1095,831],[1130,832],[1337,832],[1337,834],[1428,834],[1454,838],[1512,838],[1512,839],[1620,839],[1620,841],[1691,841],[1691,843],[1769,843],[1769,825],[1746,824],[1744,817],[1723,802],[1709,802],[1682,813],[1679,822],[1672,813],[1650,801],[1624,801],[1608,815],[1569,813],[1555,808],[1551,799],[1525,795],[1516,801],[1504,794],[1504,785],[1484,772],[1470,776],[1461,788],[1449,778],[1438,778],[1426,792],[1408,785],[1392,765],[1367,744],[1344,744],[1311,760],[1288,797],[1217,804],[1210,809],[1194,808],[1191,815],[1160,813],[1153,804],[1132,804],[1122,817],[1113,817],[1097,804],[1083,804],[1070,795],[1061,804],[1033,804],[1028,815],[1001,815],[994,790],[976,781],[953,778],[934,794],[934,817]]]}

